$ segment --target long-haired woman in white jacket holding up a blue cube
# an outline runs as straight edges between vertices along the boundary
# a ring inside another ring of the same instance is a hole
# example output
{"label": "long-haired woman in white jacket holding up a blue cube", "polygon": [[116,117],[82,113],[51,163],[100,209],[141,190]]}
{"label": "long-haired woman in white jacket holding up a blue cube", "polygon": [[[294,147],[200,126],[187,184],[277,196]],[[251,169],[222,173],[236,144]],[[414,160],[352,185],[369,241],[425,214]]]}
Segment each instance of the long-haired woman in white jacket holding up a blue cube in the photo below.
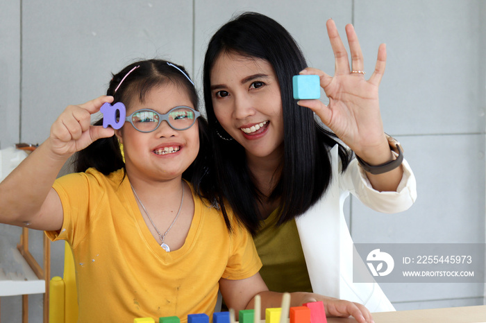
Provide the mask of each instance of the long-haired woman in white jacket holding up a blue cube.
{"label": "long-haired woman in white jacket holding up a blue cube", "polygon": [[[306,68],[292,36],[264,15],[240,15],[210,40],[203,83],[219,202],[224,210],[226,201],[254,234],[260,273],[271,290],[312,290],[360,302],[371,312],[392,311],[376,283],[353,283],[352,241],[342,213],[349,192],[387,213],[408,209],[416,198],[412,172],[383,132],[378,85],[386,49],[380,46],[376,69],[365,80],[353,26],[346,26],[352,69],[332,20],[327,28],[333,77]],[[296,103],[292,76],[299,71],[319,75],[327,106]]]}

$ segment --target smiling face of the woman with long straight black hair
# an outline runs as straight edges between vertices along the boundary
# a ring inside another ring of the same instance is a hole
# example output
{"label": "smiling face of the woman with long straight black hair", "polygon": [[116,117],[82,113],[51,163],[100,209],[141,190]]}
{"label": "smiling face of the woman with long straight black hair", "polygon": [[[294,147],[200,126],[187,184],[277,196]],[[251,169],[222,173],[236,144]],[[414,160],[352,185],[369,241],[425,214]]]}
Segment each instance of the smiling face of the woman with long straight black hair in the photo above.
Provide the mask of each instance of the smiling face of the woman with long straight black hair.
{"label": "smiling face of the woman with long straight black hair", "polygon": [[267,60],[221,52],[210,73],[212,106],[221,126],[248,157],[283,154],[280,86]]}

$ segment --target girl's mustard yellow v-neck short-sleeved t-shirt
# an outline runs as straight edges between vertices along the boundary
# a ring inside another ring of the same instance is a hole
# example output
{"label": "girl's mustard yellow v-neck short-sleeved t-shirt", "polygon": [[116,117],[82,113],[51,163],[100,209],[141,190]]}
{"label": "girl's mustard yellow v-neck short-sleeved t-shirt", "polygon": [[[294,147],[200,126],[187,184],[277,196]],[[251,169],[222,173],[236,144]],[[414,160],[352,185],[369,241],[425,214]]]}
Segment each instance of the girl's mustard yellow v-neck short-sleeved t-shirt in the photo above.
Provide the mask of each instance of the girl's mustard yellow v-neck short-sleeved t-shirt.
{"label": "girl's mustard yellow v-neck short-sleeved t-shirt", "polygon": [[[245,279],[261,267],[251,236],[194,191],[194,218],[181,249],[165,252],[146,226],[124,171],[90,168],[56,180],[64,222],[51,240],[72,246],[79,322],[212,315],[219,279]],[[191,188],[192,189],[192,188]],[[160,198],[164,198],[161,196]]]}

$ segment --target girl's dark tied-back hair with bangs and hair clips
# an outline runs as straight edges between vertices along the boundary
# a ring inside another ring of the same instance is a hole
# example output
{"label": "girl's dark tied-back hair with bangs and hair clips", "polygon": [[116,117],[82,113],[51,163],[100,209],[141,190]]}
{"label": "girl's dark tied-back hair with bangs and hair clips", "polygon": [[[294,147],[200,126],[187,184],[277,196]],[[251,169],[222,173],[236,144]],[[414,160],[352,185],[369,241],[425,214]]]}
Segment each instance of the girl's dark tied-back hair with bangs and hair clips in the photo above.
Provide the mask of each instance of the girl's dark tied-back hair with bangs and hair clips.
{"label": "girl's dark tied-back hair with bangs and hair clips", "polygon": [[[181,91],[185,91],[189,96],[192,105],[194,105],[194,109],[198,110],[199,99],[194,85],[192,85],[192,82],[188,79],[189,73],[185,71],[184,67],[174,64],[176,67],[184,71],[187,75],[186,78],[181,71],[178,71],[178,69],[167,63],[168,62],[165,60],[142,60],[128,65],[119,71],[119,73],[113,75],[108,91],[106,91],[106,95],[115,98],[115,101],[113,101],[112,104],[121,102],[124,103],[124,105],[127,105],[133,98],[137,98],[140,102],[144,102],[146,95],[155,87],[173,84],[181,89]],[[137,67],[137,69],[134,69],[129,73],[121,83],[120,87],[115,91],[121,80],[134,67]],[[201,177],[203,177],[207,171],[205,165],[210,162],[206,160],[206,155],[210,152],[208,122],[202,116],[197,119],[197,122],[199,125],[199,154],[191,166],[183,173],[183,178],[192,182],[196,189],[199,188],[198,185],[201,182]],[[94,125],[102,124],[103,119],[94,123]],[[96,168],[99,172],[105,175],[117,171],[120,168],[125,168],[119,142],[115,135],[110,138],[98,139],[76,154],[74,159],[74,170],[76,172],[84,172],[90,167]],[[227,218],[225,218],[225,220],[226,225],[228,225]]]}

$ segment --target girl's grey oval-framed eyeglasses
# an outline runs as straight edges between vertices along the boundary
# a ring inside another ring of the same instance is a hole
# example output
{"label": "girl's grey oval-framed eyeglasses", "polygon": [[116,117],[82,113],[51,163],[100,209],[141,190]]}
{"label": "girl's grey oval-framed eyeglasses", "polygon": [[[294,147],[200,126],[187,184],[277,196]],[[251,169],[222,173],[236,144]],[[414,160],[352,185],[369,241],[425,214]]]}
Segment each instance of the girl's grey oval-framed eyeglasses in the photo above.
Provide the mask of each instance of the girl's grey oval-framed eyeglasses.
{"label": "girl's grey oval-framed eyeglasses", "polygon": [[156,130],[162,121],[167,121],[174,130],[186,130],[192,127],[201,112],[191,107],[173,107],[166,114],[160,114],[151,109],[142,109],[133,112],[125,121],[133,125],[140,132],[152,132]]}

